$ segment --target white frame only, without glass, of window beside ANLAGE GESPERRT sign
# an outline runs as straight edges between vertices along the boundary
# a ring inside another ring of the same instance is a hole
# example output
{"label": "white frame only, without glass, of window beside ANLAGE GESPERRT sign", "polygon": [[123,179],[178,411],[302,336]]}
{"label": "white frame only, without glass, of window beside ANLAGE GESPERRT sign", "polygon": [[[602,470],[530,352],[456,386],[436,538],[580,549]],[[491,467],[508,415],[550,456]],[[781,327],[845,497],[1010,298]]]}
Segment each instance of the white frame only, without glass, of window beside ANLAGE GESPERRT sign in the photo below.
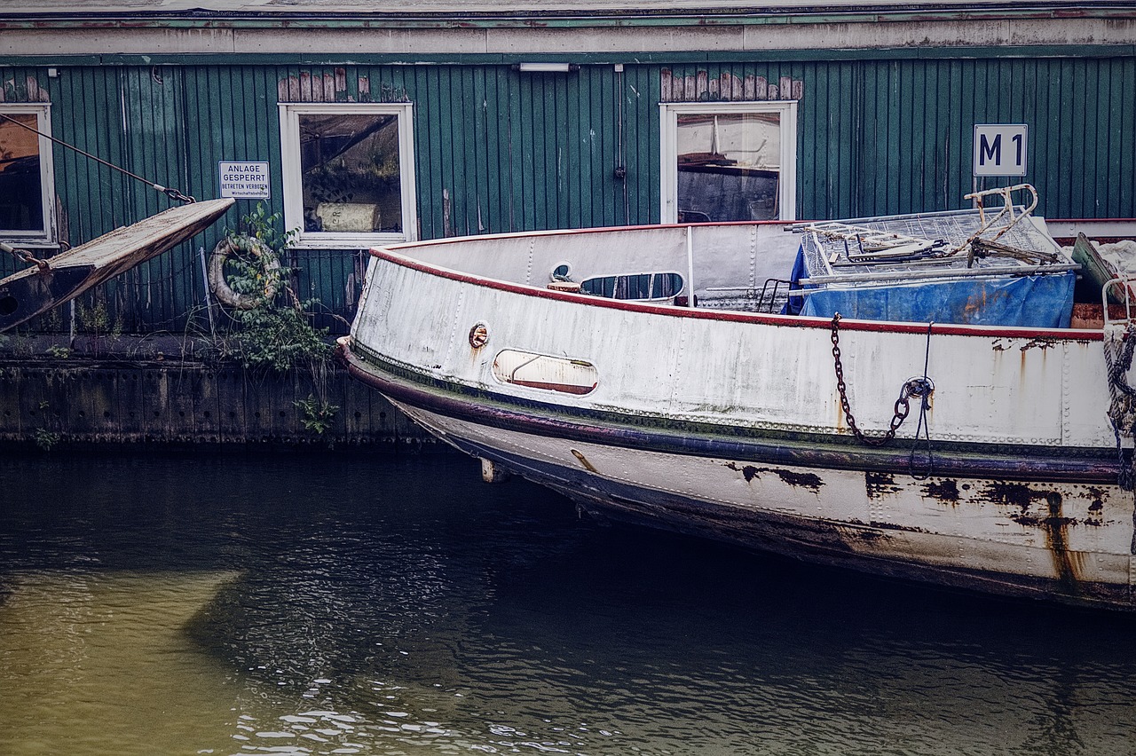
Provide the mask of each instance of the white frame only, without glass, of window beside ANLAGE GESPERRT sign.
{"label": "white frame only, without glass, of window beside ANLAGE GESPERRT sign", "polygon": [[[385,115],[398,116],[399,124],[399,180],[402,194],[402,233],[336,233],[303,230],[303,185],[300,170],[301,115]],[[415,138],[412,133],[414,103],[329,103],[282,102],[281,117],[281,174],[284,184],[284,227],[299,228],[295,246],[308,249],[367,249],[418,238],[418,200],[415,192]]]}

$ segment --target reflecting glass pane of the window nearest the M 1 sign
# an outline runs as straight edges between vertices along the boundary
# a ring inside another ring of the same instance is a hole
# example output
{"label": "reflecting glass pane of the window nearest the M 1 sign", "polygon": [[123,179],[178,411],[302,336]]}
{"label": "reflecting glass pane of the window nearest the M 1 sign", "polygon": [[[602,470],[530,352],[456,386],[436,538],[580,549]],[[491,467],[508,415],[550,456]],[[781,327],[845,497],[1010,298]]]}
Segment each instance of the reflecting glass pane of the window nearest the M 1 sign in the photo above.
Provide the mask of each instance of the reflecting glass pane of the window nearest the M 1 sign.
{"label": "reflecting glass pane of the window nearest the M 1 sign", "polygon": [[780,114],[679,114],[678,217],[686,222],[778,217]]}

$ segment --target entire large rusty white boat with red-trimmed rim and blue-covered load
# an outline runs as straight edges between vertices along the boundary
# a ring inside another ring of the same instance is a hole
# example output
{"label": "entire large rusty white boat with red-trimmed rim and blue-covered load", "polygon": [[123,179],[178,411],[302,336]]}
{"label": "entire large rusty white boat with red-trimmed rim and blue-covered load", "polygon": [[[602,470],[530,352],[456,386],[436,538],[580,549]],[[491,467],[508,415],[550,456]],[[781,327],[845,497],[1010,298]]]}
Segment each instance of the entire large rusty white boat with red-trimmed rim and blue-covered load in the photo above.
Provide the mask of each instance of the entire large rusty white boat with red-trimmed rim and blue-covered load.
{"label": "entire large rusty white boat with red-trimmed rim and blue-covered load", "polygon": [[[487,477],[588,511],[1133,608],[1136,338],[1069,327],[1077,266],[1044,221],[1008,203],[795,230],[376,249],[340,354]],[[802,314],[763,312],[794,261]]]}

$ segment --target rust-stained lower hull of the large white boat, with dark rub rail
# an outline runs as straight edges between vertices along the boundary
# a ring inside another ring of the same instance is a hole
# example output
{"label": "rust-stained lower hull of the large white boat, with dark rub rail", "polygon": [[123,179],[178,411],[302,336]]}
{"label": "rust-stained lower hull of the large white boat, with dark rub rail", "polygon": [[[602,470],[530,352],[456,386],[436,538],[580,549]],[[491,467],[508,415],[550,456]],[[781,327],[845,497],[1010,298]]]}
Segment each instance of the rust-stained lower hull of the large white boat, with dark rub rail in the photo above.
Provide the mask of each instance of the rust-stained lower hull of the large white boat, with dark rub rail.
{"label": "rust-stained lower hull of the large white boat, with dark rub rail", "polygon": [[[340,356],[438,438],[601,516],[889,578],[1133,608],[1131,494],[1108,480],[1104,460],[1020,477],[989,477],[1011,468],[988,460],[984,477],[967,464],[980,455],[961,450],[905,451],[897,467],[893,452],[813,440],[813,459],[828,464],[808,467],[769,453],[784,445],[580,422],[427,385],[345,342]],[[1093,469],[1101,479],[1085,482]]]}

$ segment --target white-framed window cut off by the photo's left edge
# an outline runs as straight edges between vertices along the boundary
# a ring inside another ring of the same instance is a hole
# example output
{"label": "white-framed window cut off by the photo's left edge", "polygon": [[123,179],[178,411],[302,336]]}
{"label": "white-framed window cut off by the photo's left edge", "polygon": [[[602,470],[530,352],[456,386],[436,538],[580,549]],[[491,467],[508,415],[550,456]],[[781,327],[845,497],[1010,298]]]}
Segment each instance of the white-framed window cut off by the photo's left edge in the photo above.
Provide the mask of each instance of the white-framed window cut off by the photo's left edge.
{"label": "white-framed window cut off by the photo's left edge", "polygon": [[[50,107],[0,104],[0,236],[12,242],[55,242]],[[8,118],[18,121],[17,125]]]}

